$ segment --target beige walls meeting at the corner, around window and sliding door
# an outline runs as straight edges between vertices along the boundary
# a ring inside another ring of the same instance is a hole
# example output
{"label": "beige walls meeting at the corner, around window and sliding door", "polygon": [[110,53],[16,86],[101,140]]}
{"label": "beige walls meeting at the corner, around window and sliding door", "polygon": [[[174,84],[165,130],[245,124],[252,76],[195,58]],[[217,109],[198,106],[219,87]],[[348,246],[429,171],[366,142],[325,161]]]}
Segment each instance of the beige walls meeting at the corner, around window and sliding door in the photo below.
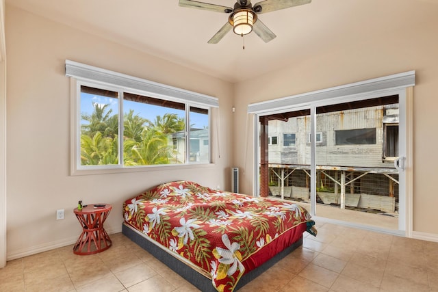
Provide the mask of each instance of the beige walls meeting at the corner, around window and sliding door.
{"label": "beige walls meeting at the corner, around window and sliding door", "polygon": [[[232,85],[7,7],[8,258],[75,241],[80,227],[73,209],[79,199],[113,204],[106,226],[116,232],[121,228],[123,200],[163,181],[189,179],[210,187],[229,187],[230,167],[237,166],[241,168],[240,191],[251,194],[253,132],[252,121],[246,115],[249,103],[408,70],[416,70],[417,76],[413,226],[417,232],[438,235],[438,225],[433,224],[438,221],[434,183],[438,165],[438,20],[421,23],[421,16],[413,17],[418,17],[416,25],[348,47],[322,48],[299,63]],[[218,97],[217,163],[183,171],[70,176],[70,96],[69,79],[64,76],[65,59]],[[56,209],[66,210],[64,220],[55,220]]]}

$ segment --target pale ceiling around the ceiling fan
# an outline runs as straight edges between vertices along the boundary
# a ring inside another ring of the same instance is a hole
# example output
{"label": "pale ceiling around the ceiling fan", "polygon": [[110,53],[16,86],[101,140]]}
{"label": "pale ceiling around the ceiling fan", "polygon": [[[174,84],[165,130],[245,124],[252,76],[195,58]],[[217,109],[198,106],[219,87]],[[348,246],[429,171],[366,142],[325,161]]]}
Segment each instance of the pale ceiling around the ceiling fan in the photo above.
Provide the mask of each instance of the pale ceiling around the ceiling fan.
{"label": "pale ceiling around the ceiling fan", "polygon": [[[235,0],[204,2],[233,7]],[[6,4],[231,82],[438,17],[438,0],[313,0],[259,15],[277,37],[265,43],[253,32],[244,37],[242,49],[242,37],[233,32],[218,44],[207,44],[228,14],[182,8],[178,0],[6,0]]]}

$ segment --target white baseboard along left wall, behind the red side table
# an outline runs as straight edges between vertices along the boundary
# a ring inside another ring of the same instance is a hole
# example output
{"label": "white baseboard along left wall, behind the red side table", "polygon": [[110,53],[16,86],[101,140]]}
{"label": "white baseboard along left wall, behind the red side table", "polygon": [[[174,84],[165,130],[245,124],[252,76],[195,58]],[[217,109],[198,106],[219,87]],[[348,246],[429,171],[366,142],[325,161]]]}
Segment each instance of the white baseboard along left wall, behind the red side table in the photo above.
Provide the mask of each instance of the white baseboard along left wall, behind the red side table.
{"label": "white baseboard along left wall, behind the red side table", "polygon": [[[105,228],[109,235],[114,233],[121,233],[122,226],[120,228],[107,229]],[[61,239],[57,241],[47,242],[40,245],[31,246],[29,248],[23,248],[21,250],[16,250],[14,252],[8,252],[6,254],[6,261],[12,261],[16,258],[23,258],[25,256],[31,256],[32,254],[39,254],[40,252],[47,252],[48,250],[53,250],[55,248],[62,248],[66,245],[74,244],[77,241],[79,235],[75,237],[69,237],[66,239]],[[72,251],[73,252],[73,251]]]}

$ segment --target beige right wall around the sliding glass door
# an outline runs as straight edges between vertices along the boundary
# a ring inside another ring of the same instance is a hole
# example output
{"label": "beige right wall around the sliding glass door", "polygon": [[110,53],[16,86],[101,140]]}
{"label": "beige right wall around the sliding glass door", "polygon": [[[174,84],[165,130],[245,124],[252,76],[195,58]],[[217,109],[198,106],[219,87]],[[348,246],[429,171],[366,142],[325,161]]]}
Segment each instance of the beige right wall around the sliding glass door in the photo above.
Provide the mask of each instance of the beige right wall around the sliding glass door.
{"label": "beige right wall around the sliding glass door", "polygon": [[[363,81],[409,70],[416,71],[413,113],[413,230],[438,235],[438,196],[435,174],[438,155],[438,18],[422,23],[421,15],[413,15],[410,27],[391,34],[364,39],[349,47],[331,47],[298,64],[271,72],[235,87],[235,165],[246,172],[241,177],[240,191],[253,192],[253,164],[244,161],[253,157],[253,148],[243,146],[246,107],[250,103],[292,96],[337,85]],[[412,25],[415,23],[415,25]],[[291,52],[293,53],[293,52]],[[252,132],[248,141],[253,141]],[[438,238],[438,237],[437,237]]]}

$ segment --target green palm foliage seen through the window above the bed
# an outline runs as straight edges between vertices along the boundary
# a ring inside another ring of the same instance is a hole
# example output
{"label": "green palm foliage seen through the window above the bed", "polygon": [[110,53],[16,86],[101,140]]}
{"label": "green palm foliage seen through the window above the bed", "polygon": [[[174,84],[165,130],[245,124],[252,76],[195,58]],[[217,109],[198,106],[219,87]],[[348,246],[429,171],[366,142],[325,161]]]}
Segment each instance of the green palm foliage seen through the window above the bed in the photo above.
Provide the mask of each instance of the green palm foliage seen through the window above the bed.
{"label": "green palm foliage seen through the window above the bed", "polygon": [[[93,103],[93,113],[82,114],[81,165],[118,164],[118,115],[110,105]],[[123,116],[124,165],[157,165],[175,162],[176,151],[169,137],[185,129],[183,118],[176,114],[157,116],[154,122],[131,109]]]}

